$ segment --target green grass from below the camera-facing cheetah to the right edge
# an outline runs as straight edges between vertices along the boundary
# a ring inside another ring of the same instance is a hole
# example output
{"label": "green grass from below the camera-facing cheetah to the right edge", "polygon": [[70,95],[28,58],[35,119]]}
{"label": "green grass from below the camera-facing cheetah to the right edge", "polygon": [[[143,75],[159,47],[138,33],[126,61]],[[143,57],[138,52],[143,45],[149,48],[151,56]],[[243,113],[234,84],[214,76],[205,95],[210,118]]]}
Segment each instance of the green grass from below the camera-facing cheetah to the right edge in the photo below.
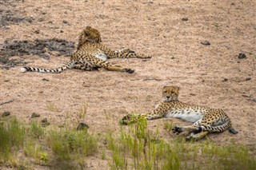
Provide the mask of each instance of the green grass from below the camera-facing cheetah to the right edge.
{"label": "green grass from below the camera-facing cheetah to the right edge", "polygon": [[[256,147],[217,145],[210,140],[186,142],[177,137],[167,143],[147,129],[145,119],[120,129],[120,136],[106,136],[112,152],[112,169],[255,169]],[[165,128],[170,130],[171,124]]]}

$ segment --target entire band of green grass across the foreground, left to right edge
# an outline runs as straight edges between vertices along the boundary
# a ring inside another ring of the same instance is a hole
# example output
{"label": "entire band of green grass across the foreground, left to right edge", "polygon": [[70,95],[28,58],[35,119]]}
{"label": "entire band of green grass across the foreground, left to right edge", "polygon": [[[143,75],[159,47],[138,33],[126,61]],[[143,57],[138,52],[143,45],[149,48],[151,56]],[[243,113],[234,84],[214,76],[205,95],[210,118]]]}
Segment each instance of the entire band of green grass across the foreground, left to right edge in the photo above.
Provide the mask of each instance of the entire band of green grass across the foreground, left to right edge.
{"label": "entire band of green grass across the foreground, left to right edge", "polygon": [[[166,123],[164,127],[169,132],[172,124]],[[79,131],[68,127],[42,128],[37,121],[25,126],[11,119],[2,121],[0,136],[0,164],[15,167],[26,168],[31,162],[47,166],[57,159],[65,161],[66,166],[83,168],[86,156],[99,153],[102,160],[108,160],[111,169],[256,168],[255,145],[218,145],[207,139],[186,142],[180,137],[166,142],[159,136],[158,128],[154,132],[147,128],[143,118],[136,124],[120,126],[118,133],[107,133],[101,152],[98,152],[98,137],[86,128]],[[23,153],[22,160],[18,152]]]}

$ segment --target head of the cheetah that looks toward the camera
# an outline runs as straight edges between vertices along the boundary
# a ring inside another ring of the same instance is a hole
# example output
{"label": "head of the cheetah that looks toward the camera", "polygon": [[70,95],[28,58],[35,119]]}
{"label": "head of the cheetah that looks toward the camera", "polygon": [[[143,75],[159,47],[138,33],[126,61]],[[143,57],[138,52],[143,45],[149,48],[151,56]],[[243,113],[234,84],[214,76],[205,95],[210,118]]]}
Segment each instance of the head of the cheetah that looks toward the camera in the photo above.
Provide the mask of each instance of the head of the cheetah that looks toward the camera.
{"label": "head of the cheetah that looks toward the camera", "polygon": [[162,89],[163,101],[178,101],[178,86],[164,86]]}

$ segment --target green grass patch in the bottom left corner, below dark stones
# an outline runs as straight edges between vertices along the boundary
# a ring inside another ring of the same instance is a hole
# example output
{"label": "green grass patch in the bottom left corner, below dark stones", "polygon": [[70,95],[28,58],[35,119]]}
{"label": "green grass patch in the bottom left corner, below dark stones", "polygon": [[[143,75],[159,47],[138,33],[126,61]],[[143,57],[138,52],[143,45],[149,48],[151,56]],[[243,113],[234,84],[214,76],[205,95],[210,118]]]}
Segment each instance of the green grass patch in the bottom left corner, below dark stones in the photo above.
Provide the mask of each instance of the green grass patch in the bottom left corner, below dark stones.
{"label": "green grass patch in the bottom left corner, below dark stones", "polygon": [[[83,166],[86,156],[94,155],[97,151],[97,137],[87,132],[86,128],[79,131],[70,127],[42,128],[37,121],[26,126],[15,118],[2,121],[0,125],[0,164],[24,167],[24,162],[28,161],[47,165],[57,159],[70,160]],[[22,159],[18,152],[23,153]],[[73,168],[75,166],[72,165]]]}

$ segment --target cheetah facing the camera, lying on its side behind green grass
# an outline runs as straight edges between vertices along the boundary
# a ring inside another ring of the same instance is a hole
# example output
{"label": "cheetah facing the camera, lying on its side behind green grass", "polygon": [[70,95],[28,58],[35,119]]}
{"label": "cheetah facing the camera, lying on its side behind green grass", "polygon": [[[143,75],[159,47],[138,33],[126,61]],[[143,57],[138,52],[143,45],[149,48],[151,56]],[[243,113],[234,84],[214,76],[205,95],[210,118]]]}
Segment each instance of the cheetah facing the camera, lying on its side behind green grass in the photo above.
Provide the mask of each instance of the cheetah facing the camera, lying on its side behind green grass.
{"label": "cheetah facing the camera, lying on its side behind green grass", "polygon": [[231,127],[230,118],[222,109],[210,109],[183,103],[178,101],[178,92],[179,87],[177,86],[165,86],[162,89],[163,101],[151,113],[129,114],[122,117],[120,123],[129,125],[134,123],[138,117],[145,117],[147,120],[176,117],[194,123],[190,126],[174,126],[172,128],[172,131],[177,135],[181,132],[189,134],[186,136],[186,140],[199,140],[210,132],[224,132],[226,129],[231,133],[238,133]]}

